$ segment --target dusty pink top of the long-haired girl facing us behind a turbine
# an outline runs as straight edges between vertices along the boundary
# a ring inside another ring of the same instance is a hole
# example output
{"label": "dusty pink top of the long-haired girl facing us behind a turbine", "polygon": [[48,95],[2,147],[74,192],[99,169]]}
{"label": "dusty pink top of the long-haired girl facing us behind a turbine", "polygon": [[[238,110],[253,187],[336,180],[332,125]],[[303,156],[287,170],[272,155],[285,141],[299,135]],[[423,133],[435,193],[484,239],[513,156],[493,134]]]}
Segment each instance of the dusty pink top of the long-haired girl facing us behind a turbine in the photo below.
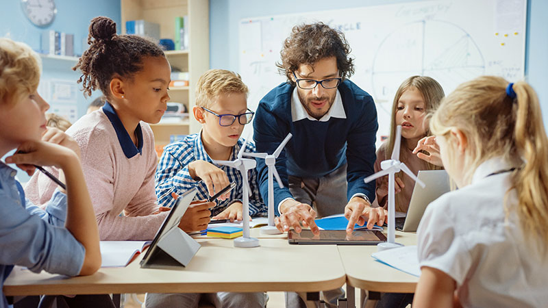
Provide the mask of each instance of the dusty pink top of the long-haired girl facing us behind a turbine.
{"label": "dusty pink top of the long-haired girl facing us behind a turbine", "polygon": [[[375,160],[375,165],[373,166],[375,168],[375,172],[381,169],[381,162],[383,160],[390,159],[390,155],[386,157],[387,145],[388,145],[388,142],[384,142],[382,146],[380,146],[379,149],[377,150],[377,160]],[[401,145],[403,146],[403,144]],[[406,166],[408,166],[415,175],[419,172],[419,170],[428,170],[428,164],[425,161],[423,161],[423,159],[416,157],[416,155],[414,155],[410,149],[407,149],[406,146],[403,146],[403,151],[401,152],[399,161],[405,163]],[[399,177],[400,179],[402,179],[403,185],[406,185],[406,187],[403,188],[401,192],[395,195],[396,211],[403,211],[404,213],[406,213],[407,209],[409,208],[409,201],[411,201],[411,195],[413,194],[415,182],[413,181],[413,179],[408,177],[408,175],[405,175],[403,172],[399,172]],[[384,178],[388,178],[388,175],[377,179],[377,188],[382,183],[382,180],[384,180]],[[376,192],[377,190],[375,189],[375,193]],[[386,200],[387,200],[386,196],[384,196],[384,198],[379,198],[379,195],[377,194],[377,198],[375,198],[375,202],[373,203],[373,205],[377,203],[380,206],[384,207],[386,206]]]}

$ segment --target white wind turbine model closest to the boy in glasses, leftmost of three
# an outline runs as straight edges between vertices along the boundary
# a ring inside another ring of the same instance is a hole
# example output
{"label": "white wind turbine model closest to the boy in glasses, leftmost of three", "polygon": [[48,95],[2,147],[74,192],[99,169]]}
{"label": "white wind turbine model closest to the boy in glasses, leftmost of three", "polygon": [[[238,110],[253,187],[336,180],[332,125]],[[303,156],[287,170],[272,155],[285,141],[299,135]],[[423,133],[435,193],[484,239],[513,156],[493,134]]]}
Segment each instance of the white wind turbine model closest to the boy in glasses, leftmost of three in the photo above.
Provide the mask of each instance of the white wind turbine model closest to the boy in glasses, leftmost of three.
{"label": "white wind turbine model closest to the boy in glasses, leftmost of three", "polygon": [[247,145],[246,138],[242,144],[242,148],[238,152],[238,156],[234,160],[214,160],[215,164],[229,166],[236,168],[242,174],[243,192],[242,192],[242,238],[234,239],[234,247],[257,247],[259,246],[259,240],[249,237],[249,195],[251,194],[251,188],[249,188],[249,180],[247,179],[247,170],[251,170],[257,166],[255,159],[242,158]]}

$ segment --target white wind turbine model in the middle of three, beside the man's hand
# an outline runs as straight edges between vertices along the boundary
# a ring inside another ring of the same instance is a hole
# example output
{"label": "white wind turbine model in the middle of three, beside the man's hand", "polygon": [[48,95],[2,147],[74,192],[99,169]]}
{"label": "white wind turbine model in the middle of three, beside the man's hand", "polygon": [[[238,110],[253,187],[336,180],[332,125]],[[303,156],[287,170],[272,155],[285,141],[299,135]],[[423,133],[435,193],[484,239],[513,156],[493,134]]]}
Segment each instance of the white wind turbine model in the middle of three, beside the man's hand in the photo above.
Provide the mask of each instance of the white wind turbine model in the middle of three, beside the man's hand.
{"label": "white wind turbine model in the middle of three, beside the man's hand", "polygon": [[282,150],[284,149],[284,146],[286,146],[287,142],[291,139],[292,135],[291,133],[288,133],[284,141],[279,144],[276,151],[272,154],[266,154],[266,153],[244,153],[244,156],[249,157],[259,157],[264,159],[264,163],[266,166],[269,166],[269,224],[261,228],[261,233],[264,234],[280,234],[278,229],[276,229],[274,225],[274,180],[272,179],[272,175],[276,177],[276,181],[278,182],[279,188],[284,188],[284,184],[282,183],[282,179],[279,178],[278,172],[276,171],[276,158],[278,158],[279,153],[282,153]]}

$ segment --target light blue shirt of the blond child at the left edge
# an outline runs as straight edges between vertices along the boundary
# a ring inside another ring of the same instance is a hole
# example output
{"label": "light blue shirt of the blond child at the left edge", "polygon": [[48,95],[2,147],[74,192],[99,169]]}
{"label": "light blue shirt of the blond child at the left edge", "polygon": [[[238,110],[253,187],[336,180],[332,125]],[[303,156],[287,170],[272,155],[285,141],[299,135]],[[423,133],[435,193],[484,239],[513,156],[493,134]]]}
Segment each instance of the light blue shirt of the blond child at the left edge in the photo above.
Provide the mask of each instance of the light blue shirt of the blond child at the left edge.
{"label": "light blue shirt of the blond child at the left edge", "polygon": [[3,283],[14,265],[75,276],[86,250],[64,229],[66,195],[55,190],[45,210],[25,199],[16,170],[0,162],[0,308],[8,307]]}

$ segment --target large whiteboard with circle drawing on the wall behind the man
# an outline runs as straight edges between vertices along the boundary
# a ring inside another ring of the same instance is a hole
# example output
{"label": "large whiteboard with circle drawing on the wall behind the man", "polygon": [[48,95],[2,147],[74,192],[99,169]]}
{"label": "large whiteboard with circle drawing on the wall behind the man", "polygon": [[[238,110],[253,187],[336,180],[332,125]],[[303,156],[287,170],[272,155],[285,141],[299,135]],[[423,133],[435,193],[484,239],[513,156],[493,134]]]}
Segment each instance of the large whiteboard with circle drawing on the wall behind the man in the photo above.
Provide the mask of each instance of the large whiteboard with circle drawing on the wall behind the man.
{"label": "large whiteboard with circle drawing on the wall behind the man", "polygon": [[[239,73],[249,87],[248,106],[286,81],[279,51],[291,29],[323,23],[345,34],[355,59],[350,78],[375,99],[377,146],[390,128],[394,94],[412,75],[436,79],[449,94],[479,75],[523,79],[526,0],[418,1],[391,5],[264,16],[239,24]],[[246,125],[248,136],[252,129]]]}

